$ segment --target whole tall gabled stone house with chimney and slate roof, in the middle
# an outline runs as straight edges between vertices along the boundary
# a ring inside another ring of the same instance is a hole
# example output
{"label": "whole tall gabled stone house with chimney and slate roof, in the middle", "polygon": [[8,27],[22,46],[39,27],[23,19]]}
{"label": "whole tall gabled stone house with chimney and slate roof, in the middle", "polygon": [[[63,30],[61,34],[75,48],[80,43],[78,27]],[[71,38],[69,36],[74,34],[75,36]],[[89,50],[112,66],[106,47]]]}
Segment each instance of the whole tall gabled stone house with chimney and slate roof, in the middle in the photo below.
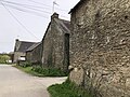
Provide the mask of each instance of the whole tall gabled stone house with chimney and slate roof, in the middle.
{"label": "whole tall gabled stone house with chimney and slate roof, in the middle", "polygon": [[58,14],[51,16],[51,22],[42,39],[43,67],[67,70],[69,65],[69,28],[70,23],[58,18]]}

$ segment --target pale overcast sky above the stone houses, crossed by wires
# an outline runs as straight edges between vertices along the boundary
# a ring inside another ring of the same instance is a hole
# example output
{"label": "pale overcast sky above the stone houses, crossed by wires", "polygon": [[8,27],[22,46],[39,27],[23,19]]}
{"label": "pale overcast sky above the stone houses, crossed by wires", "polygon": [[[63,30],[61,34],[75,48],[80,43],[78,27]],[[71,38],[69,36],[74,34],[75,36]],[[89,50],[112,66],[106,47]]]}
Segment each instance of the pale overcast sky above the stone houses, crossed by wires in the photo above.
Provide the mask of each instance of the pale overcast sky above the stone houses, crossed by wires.
{"label": "pale overcast sky above the stone houses, crossed by wires", "polygon": [[[15,39],[39,42],[53,13],[54,0],[0,0],[0,53],[13,52]],[[54,11],[68,19],[79,0],[56,0]]]}

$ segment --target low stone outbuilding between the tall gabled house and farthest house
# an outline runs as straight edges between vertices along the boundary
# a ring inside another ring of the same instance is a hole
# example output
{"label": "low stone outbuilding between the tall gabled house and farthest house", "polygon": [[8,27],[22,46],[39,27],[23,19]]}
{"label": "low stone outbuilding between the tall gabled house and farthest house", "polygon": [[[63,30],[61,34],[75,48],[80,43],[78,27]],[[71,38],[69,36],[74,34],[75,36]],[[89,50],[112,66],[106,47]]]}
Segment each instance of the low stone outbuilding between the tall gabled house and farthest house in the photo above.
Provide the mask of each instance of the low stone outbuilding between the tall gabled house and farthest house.
{"label": "low stone outbuilding between the tall gabled house and farthest house", "polygon": [[42,43],[38,42],[26,51],[26,61],[41,65]]}

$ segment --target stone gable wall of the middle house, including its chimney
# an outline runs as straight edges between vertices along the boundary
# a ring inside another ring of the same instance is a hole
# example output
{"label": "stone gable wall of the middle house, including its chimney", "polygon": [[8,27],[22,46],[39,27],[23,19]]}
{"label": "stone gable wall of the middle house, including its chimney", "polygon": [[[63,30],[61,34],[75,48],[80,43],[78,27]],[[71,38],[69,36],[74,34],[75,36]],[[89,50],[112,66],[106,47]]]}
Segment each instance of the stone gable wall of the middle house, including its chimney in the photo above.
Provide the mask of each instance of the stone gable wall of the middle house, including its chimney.
{"label": "stone gable wall of the middle house, including its chimney", "polygon": [[58,25],[58,22],[61,22],[58,15],[54,15],[51,17],[51,23],[42,40],[42,64],[43,67],[52,67],[66,70],[67,65],[64,64],[65,32],[63,31],[64,29],[62,29]]}

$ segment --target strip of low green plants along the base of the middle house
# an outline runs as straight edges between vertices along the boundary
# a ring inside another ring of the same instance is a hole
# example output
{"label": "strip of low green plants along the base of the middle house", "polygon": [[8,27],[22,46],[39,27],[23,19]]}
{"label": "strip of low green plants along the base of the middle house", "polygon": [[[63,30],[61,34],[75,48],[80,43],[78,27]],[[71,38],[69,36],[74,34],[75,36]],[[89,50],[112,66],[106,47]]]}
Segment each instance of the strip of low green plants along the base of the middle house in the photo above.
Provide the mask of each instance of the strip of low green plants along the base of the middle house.
{"label": "strip of low green plants along the base of the middle house", "polygon": [[30,63],[23,61],[20,64],[22,69],[26,72],[26,69],[28,70],[27,73],[31,73],[37,77],[67,77],[68,73],[62,71],[61,69],[56,68],[42,68],[40,65],[32,66]]}

